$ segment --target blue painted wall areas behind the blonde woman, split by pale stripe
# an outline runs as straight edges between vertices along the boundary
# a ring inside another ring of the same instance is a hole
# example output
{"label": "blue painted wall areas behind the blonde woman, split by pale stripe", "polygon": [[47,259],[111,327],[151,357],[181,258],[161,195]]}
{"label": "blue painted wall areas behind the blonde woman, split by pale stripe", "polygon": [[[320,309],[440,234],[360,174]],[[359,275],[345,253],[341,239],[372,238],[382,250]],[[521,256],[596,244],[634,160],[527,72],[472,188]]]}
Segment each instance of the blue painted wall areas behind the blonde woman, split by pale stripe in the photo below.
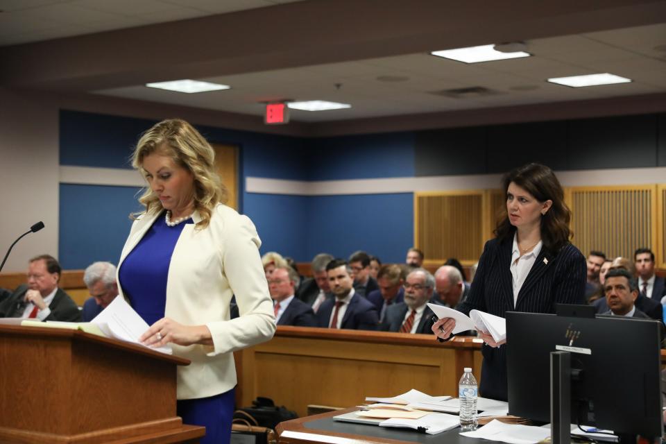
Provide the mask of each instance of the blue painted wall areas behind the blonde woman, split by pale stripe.
{"label": "blue painted wall areas behind the blonde woman, split by pale stripe", "polygon": [[[60,112],[60,164],[130,168],[139,136],[155,121],[105,114]],[[262,253],[278,251],[308,262],[326,251],[347,257],[359,249],[384,261],[402,261],[413,239],[411,194],[281,196],[248,194],[246,177],[336,180],[414,176],[413,135],[307,139],[198,126],[212,143],[239,146],[239,202],[262,238]],[[60,185],[60,261],[85,268],[117,262],[130,221],[139,209],[128,187]],[[76,220],[76,223],[70,221]]]}

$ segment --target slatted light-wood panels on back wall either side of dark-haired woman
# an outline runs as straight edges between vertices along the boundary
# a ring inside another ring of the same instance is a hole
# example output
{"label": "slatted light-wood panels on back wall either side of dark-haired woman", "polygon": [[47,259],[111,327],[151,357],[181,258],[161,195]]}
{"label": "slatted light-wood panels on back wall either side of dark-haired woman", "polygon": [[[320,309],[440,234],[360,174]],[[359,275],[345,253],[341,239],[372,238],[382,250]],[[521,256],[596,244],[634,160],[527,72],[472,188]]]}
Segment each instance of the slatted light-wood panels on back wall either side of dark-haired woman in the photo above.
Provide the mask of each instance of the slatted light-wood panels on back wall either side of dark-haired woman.
{"label": "slatted light-wood panels on back wall either side of dark-haired woman", "polygon": [[[493,237],[504,199],[497,189],[416,193],[414,244],[426,263],[442,264],[448,257],[475,263]],[[666,185],[568,187],[565,203],[572,210],[572,243],[584,255],[601,250],[633,259],[637,248],[647,247],[656,266],[666,268]]]}

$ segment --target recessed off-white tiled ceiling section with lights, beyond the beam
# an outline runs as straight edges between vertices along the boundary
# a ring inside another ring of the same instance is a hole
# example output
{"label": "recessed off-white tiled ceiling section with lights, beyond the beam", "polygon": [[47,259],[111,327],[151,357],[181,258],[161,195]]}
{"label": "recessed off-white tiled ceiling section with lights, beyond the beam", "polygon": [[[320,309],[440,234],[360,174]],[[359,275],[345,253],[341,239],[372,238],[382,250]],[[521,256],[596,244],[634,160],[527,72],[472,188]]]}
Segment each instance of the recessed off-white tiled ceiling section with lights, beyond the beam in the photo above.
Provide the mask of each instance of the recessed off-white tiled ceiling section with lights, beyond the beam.
{"label": "recessed off-white tiled ceiling section with lights, beyond the beam", "polygon": [[[135,85],[98,93],[255,115],[264,112],[262,102],[279,99],[352,105],[324,112],[291,110],[294,120],[316,122],[666,92],[666,24],[526,43],[532,57],[471,65],[417,53],[200,79],[231,86],[224,91],[182,94]],[[549,77],[603,72],[634,81],[586,88],[546,82]],[[379,76],[409,80],[382,82]],[[460,99],[432,94],[477,86],[496,94]]]}

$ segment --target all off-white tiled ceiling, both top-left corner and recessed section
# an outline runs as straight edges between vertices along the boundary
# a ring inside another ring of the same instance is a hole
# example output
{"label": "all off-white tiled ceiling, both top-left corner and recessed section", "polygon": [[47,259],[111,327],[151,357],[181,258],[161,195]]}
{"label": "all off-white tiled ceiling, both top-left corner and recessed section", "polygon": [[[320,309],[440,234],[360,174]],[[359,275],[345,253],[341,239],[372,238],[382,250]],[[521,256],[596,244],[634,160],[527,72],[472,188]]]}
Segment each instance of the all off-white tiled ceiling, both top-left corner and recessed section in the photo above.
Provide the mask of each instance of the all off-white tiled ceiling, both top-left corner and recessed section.
{"label": "all off-white tiled ceiling, both top-left corner and recessed section", "polygon": [[[298,0],[0,0],[0,46],[265,6],[280,8],[278,3],[293,1]],[[666,23],[525,43],[533,57],[467,65],[428,53],[412,53],[198,79],[231,86],[217,92],[182,94],[143,85],[93,92],[256,116],[264,112],[262,102],[271,100],[321,99],[352,105],[350,109],[325,112],[291,110],[293,120],[304,122],[666,92]],[[438,49],[442,48],[431,50]],[[574,89],[545,81],[549,77],[603,72],[629,77],[633,82]],[[407,80],[386,82],[377,80],[380,76]],[[153,81],[162,80],[177,79]],[[432,94],[464,87],[484,87],[494,94],[458,99]]]}

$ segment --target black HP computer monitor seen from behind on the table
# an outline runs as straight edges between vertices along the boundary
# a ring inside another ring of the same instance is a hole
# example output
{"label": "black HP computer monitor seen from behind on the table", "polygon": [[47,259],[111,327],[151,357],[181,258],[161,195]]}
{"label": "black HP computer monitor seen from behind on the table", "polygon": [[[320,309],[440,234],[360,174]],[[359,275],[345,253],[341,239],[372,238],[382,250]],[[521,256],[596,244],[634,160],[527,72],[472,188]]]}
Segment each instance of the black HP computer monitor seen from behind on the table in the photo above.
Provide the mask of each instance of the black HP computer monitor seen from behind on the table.
{"label": "black HP computer monitor seen from behind on the table", "polygon": [[570,352],[579,375],[571,381],[572,424],[661,436],[658,321],[507,313],[509,414],[550,422],[550,353],[557,350]]}

